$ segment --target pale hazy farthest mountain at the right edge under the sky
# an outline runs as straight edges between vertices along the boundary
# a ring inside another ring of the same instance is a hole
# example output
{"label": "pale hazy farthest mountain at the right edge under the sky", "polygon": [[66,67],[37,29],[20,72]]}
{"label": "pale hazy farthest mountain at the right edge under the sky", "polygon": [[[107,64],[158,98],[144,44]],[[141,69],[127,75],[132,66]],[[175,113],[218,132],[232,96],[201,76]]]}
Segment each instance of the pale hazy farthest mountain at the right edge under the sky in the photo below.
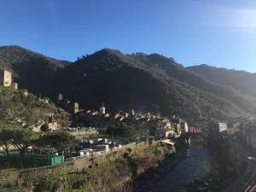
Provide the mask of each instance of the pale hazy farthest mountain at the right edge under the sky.
{"label": "pale hazy farthest mountain at the right edge under the sky", "polygon": [[256,96],[256,74],[247,73],[245,71],[236,71],[226,68],[211,67],[208,65],[200,65],[188,67],[190,71],[198,73],[201,76],[215,82],[217,84],[225,84],[240,90],[241,93]]}

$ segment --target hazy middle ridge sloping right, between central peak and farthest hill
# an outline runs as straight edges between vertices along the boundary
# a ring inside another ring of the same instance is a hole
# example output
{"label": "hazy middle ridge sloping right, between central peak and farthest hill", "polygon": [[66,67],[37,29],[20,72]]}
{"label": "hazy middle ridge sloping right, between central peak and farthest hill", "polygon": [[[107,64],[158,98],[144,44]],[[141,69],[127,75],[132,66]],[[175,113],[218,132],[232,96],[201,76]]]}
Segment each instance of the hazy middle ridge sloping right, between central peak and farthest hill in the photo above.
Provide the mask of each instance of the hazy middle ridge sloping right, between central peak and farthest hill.
{"label": "hazy middle ridge sloping right, between central peak and farthest hill", "polygon": [[148,65],[153,65],[154,67],[164,70],[168,76],[197,89],[211,93],[212,95],[236,103],[240,108],[247,108],[247,110],[252,111],[255,107],[252,105],[252,101],[256,102],[253,96],[241,94],[240,91],[230,87],[229,84],[217,84],[214,81],[210,81],[204,76],[184,68],[182,65],[177,64],[176,61],[168,59],[163,55],[138,55],[138,57],[144,62],[147,62]]}

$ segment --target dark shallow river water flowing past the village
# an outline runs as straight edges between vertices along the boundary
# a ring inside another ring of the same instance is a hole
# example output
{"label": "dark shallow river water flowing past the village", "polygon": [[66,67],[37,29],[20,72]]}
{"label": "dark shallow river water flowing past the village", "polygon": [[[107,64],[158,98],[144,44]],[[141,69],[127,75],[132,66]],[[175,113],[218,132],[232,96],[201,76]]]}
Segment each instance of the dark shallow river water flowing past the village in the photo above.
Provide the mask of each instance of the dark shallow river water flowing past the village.
{"label": "dark shallow river water flowing past the village", "polygon": [[185,149],[180,162],[152,186],[154,192],[186,192],[185,186],[211,171],[211,155],[203,145]]}

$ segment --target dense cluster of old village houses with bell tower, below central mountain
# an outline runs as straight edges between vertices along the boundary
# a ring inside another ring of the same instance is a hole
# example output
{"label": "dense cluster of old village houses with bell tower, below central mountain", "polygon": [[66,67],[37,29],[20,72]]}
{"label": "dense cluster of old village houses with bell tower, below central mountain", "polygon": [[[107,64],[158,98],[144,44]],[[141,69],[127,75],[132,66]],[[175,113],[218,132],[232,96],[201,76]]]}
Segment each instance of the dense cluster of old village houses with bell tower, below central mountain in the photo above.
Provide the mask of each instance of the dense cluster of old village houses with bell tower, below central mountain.
{"label": "dense cluster of old village houses with bell tower, below central mountain", "polygon": [[134,109],[107,113],[103,102],[98,110],[84,110],[79,109],[78,102],[70,102],[62,94],[57,96],[57,104],[74,113],[78,126],[93,126],[97,130],[106,131],[108,126],[123,122],[135,127],[141,136],[179,137],[182,132],[189,131],[188,123],[175,116],[160,117],[151,113],[137,113]]}

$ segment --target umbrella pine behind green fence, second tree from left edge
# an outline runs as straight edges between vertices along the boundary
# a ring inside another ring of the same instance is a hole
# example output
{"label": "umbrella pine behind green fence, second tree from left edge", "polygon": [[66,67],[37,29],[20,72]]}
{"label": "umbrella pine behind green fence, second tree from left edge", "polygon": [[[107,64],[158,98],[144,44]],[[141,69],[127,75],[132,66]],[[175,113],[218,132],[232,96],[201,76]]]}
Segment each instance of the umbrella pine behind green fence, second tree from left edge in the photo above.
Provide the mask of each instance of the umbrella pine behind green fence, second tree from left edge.
{"label": "umbrella pine behind green fence, second tree from left edge", "polygon": [[19,129],[14,131],[13,144],[20,150],[20,154],[24,154],[26,148],[34,144],[38,136],[28,130]]}

